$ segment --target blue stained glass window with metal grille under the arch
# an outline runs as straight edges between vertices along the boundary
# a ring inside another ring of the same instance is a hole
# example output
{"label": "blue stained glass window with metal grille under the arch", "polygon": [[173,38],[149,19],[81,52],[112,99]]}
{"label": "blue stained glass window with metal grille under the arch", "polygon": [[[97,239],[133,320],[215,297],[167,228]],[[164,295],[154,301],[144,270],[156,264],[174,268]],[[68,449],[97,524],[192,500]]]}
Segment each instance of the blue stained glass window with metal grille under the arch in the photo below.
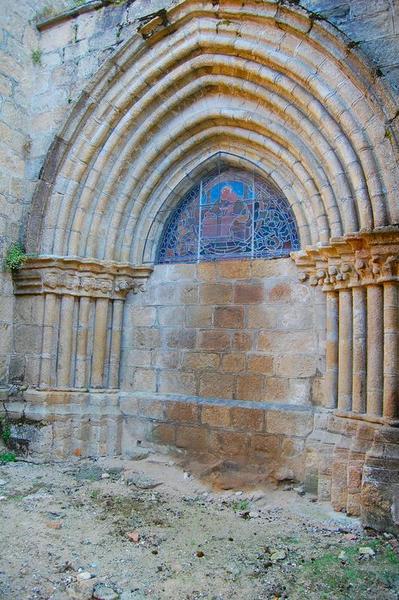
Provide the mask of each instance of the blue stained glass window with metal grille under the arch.
{"label": "blue stained glass window with metal grille under the arch", "polygon": [[298,248],[282,192],[255,173],[227,167],[203,177],[182,198],[163,231],[157,261],[274,258]]}

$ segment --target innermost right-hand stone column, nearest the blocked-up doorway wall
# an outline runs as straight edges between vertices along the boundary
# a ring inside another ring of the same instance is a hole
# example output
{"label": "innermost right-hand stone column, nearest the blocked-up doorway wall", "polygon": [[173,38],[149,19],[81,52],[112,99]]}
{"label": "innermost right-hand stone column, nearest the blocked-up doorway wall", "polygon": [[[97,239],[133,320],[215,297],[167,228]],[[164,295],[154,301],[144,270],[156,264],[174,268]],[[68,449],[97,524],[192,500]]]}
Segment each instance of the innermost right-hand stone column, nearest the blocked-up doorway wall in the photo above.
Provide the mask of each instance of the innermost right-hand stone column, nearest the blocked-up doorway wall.
{"label": "innermost right-hand stone column, nearest the blocked-up doorway wall", "polygon": [[338,398],[338,294],[327,292],[325,406],[336,408]]}

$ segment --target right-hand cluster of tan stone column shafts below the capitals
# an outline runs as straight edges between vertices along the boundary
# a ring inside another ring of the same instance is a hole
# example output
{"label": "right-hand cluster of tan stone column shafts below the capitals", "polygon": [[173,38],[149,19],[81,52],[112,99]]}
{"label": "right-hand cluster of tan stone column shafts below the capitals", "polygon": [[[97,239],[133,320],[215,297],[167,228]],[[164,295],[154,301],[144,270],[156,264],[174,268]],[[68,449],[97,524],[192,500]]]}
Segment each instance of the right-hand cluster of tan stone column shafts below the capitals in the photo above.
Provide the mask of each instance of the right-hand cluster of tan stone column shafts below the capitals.
{"label": "right-hand cluster of tan stone column shafts below the capitals", "polygon": [[399,416],[397,282],[327,291],[326,408]]}

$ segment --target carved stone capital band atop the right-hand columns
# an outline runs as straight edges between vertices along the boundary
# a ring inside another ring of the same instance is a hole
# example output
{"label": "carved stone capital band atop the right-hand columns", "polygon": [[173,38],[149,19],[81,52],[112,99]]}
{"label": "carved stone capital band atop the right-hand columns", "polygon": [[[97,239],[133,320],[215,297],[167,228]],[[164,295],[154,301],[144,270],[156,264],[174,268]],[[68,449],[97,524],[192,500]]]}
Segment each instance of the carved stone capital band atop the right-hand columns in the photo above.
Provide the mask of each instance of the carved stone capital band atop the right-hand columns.
{"label": "carved stone capital band atop the right-hand columns", "polygon": [[360,285],[399,282],[399,228],[332,238],[328,246],[293,252],[300,281],[323,291]]}

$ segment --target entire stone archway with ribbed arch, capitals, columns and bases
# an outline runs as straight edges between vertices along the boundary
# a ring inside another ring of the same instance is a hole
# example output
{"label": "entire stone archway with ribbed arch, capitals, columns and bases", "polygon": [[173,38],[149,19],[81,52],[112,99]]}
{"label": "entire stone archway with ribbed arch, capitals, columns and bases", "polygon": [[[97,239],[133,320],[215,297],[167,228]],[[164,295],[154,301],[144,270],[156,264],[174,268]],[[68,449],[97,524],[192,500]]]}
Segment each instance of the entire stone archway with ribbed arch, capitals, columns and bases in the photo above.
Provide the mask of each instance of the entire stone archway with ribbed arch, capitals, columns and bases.
{"label": "entire stone archway with ribbed arch, capitals, columns and bases", "polygon": [[[106,62],[48,154],[26,235],[37,256],[15,282],[20,335],[35,340],[25,409],[54,421],[60,453],[120,449],[124,299],[149,277],[180,190],[224,153],[257,164],[284,192],[303,282],[327,293],[325,408],[301,464],[322,496],[360,511],[351,473],[363,473],[368,493],[370,448],[376,465],[384,436],[397,452],[394,114],[370,65],[335,29],[274,2],[186,0]],[[393,489],[384,488],[384,514]]]}

